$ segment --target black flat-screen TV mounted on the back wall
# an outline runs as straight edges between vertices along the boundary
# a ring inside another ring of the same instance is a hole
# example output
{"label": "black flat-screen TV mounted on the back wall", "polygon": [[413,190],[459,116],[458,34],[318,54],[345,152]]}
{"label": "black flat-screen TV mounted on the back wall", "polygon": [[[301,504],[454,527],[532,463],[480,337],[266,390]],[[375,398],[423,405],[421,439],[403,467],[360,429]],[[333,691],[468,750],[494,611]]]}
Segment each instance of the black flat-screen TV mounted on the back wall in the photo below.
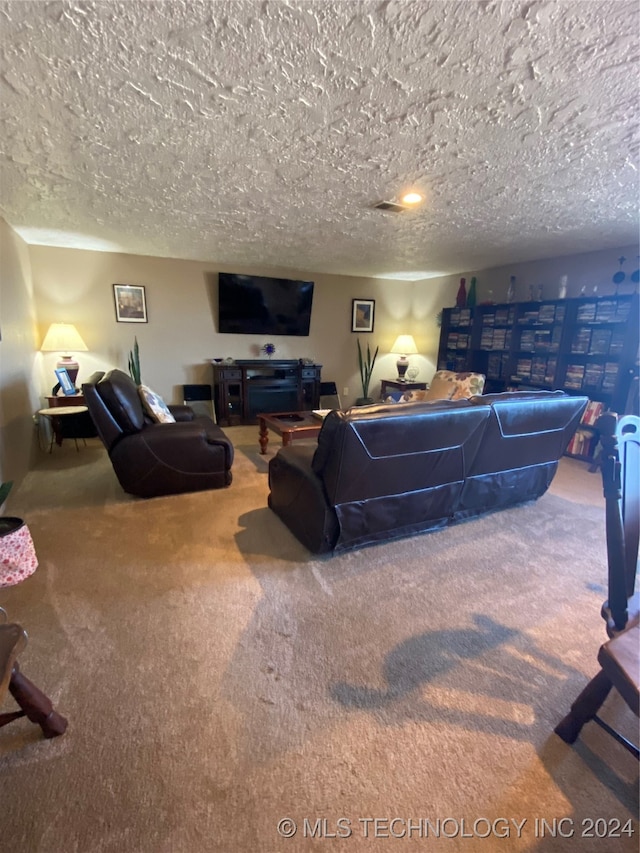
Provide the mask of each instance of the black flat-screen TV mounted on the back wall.
{"label": "black flat-screen TV mounted on the back wall", "polygon": [[308,335],[313,282],[218,274],[218,331],[236,335]]}

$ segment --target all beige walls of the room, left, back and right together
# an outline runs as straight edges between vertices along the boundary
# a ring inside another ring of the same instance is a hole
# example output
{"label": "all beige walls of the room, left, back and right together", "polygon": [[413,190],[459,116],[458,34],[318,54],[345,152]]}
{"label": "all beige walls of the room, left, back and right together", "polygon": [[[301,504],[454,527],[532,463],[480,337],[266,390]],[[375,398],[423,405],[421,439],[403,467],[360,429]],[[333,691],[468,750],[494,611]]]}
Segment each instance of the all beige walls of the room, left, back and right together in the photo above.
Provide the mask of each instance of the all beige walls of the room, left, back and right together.
{"label": "all beige walls of the room, left, back and right together", "polygon": [[[78,354],[78,382],[97,369],[127,369],[127,354],[137,336],[142,378],[167,402],[181,400],[185,383],[211,382],[213,358],[256,358],[266,343],[254,335],[220,335],[216,331],[217,272],[312,278],[315,283],[309,337],[273,338],[282,358],[309,357],[323,365],[322,375],[338,385],[343,404],[361,395],[356,339],[380,347],[371,391],[382,378],[395,376],[396,356],[389,349],[400,333],[416,339],[420,355],[411,362],[419,379],[429,380],[435,371],[439,327],[437,315],[455,302],[460,275],[418,282],[399,282],[349,276],[317,275],[300,270],[266,267],[225,267],[215,261],[200,263],[80,249],[25,246],[5,223],[2,225],[2,310],[0,328],[0,393],[2,400],[2,472],[9,476],[9,457],[14,471],[24,471],[32,451],[33,412],[55,382],[55,353],[38,347],[52,322],[74,323],[89,352]],[[624,255],[627,280],[637,268],[638,247],[624,247],[554,258],[509,268],[468,271],[469,282],[478,278],[478,301],[499,301],[506,296],[509,275],[517,276],[517,299],[526,299],[529,285],[544,286],[544,296],[557,295],[560,276],[569,279],[569,296],[598,287],[611,293],[618,258]],[[118,323],[113,287],[136,284],[146,288],[148,323]],[[375,299],[373,334],[351,333],[351,300]],[[37,329],[34,333],[34,323]],[[344,394],[344,389],[348,392]],[[19,474],[12,474],[18,477]]]}

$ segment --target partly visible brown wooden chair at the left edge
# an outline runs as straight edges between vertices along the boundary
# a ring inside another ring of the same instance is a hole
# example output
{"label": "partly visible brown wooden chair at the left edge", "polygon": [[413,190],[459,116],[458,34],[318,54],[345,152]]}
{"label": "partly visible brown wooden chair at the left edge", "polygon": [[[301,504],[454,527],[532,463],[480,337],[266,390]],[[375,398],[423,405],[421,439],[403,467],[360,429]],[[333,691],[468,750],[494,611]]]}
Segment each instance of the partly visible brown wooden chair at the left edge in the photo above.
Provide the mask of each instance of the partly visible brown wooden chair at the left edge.
{"label": "partly visible brown wooden chair at the left edge", "polygon": [[[2,608],[0,616],[6,617]],[[20,706],[19,711],[0,714],[0,728],[27,717],[40,726],[46,738],[57,737],[66,731],[67,720],[54,710],[49,697],[20,672],[17,658],[26,645],[24,628],[15,622],[0,624],[0,705],[8,690]]]}

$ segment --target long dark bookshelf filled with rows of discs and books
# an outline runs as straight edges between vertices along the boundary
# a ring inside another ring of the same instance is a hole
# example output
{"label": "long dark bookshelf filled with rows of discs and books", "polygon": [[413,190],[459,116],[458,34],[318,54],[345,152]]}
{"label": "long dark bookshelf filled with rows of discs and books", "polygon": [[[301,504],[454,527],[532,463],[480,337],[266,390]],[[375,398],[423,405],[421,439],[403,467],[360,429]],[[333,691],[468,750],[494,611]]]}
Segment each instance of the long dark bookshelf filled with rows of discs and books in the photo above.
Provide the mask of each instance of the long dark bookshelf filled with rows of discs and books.
{"label": "long dark bookshelf filled with rows of discs and books", "polygon": [[[636,373],[638,318],[637,294],[445,308],[438,369],[484,373],[485,393],[560,389],[621,413]],[[590,458],[595,443],[575,455]]]}

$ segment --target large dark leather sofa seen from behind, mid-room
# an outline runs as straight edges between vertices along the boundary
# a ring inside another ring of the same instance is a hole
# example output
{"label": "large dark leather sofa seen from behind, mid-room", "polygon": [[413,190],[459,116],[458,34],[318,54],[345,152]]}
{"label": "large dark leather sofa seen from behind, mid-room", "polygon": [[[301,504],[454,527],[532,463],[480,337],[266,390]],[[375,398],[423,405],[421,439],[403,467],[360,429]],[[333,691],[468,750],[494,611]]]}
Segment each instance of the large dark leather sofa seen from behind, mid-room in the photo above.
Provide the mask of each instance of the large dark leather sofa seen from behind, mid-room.
{"label": "large dark leather sofa seen from behind, mid-room", "polygon": [[269,506],[313,553],[445,527],[548,489],[586,397],[515,392],[331,412],[269,463]]}

